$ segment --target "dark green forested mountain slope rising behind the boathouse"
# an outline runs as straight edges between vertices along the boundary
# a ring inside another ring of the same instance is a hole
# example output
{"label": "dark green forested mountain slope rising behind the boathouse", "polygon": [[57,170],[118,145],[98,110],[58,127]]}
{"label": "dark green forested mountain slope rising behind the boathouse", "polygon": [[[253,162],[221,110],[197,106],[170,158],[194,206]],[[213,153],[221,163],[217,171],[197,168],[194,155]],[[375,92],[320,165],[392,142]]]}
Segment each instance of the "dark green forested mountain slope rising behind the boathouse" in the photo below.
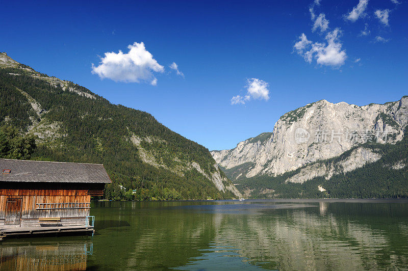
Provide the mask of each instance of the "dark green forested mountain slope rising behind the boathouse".
{"label": "dark green forested mountain slope rising behind the boathouse", "polygon": [[113,180],[106,187],[108,199],[241,197],[205,147],[146,112],[112,104],[5,52],[0,105],[0,125],[37,138],[33,159],[104,164]]}

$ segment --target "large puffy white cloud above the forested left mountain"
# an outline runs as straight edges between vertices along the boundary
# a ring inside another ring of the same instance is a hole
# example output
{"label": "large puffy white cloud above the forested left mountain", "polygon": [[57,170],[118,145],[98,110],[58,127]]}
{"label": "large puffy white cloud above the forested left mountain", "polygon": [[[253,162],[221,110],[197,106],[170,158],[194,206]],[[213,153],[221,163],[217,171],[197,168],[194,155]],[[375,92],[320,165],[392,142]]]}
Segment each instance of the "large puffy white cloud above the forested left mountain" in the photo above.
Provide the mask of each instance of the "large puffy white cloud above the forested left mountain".
{"label": "large puffy white cloud above the forested left mountain", "polygon": [[106,52],[105,57],[100,58],[99,66],[92,64],[92,73],[99,75],[101,79],[109,78],[116,82],[148,82],[157,84],[157,78],[153,72],[163,72],[160,65],[146,50],[144,43],[133,43],[127,46],[129,52],[118,53]]}

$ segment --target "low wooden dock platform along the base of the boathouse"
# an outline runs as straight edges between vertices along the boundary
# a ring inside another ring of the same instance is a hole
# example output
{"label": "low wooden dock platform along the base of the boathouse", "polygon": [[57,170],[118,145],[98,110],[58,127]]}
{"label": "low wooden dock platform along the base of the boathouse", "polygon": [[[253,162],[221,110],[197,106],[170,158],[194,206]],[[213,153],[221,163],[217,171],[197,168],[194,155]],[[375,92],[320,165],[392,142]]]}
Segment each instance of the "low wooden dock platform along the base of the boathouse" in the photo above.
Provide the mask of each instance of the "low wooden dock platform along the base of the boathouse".
{"label": "low wooden dock platform along the base of the boathouse", "polygon": [[63,235],[65,233],[75,234],[93,234],[92,226],[48,226],[48,227],[3,227],[0,228],[0,241],[5,237],[29,237],[38,235],[57,234]]}

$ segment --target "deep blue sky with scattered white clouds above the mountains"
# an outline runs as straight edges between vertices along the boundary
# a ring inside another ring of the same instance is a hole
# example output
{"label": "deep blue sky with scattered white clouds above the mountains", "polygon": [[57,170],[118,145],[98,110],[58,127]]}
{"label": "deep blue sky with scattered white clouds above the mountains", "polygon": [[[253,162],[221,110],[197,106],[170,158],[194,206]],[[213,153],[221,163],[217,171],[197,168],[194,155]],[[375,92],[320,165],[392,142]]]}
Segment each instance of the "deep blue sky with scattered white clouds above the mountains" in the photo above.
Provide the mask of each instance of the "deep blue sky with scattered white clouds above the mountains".
{"label": "deep blue sky with scattered white clouds above the mountains", "polygon": [[406,0],[10,1],[0,51],[230,149],[310,102],[408,95],[407,14]]}

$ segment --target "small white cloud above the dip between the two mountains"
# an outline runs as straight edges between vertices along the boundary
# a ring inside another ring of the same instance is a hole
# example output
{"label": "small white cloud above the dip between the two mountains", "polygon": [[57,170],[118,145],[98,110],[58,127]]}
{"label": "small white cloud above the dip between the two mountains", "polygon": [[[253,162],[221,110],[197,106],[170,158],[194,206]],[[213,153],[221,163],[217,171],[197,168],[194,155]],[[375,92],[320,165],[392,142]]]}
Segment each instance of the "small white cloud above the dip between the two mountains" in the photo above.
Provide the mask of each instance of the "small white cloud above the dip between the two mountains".
{"label": "small white cloud above the dip between the two mountains", "polygon": [[269,100],[269,84],[257,78],[247,79],[246,95],[232,97],[231,104],[245,104],[251,99]]}

